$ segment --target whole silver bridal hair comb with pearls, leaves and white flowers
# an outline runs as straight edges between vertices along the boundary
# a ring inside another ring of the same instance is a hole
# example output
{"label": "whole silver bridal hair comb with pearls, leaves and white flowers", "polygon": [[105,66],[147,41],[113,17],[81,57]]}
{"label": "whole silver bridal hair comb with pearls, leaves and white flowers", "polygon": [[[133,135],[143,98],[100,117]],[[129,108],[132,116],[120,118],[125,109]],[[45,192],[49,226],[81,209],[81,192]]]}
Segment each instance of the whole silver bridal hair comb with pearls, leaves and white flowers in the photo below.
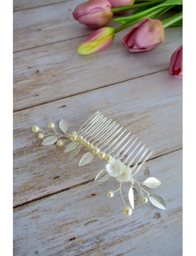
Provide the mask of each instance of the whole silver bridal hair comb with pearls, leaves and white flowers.
{"label": "whole silver bridal hair comb with pearls, leaves and white flowers", "polygon": [[[108,191],[107,196],[113,197],[117,191],[120,191],[123,203],[123,214],[125,216],[132,215],[133,209],[136,208],[139,202],[139,193],[134,188],[135,184],[138,185],[141,192],[142,203],[150,202],[160,208],[166,209],[166,204],[161,196],[157,194],[150,194],[143,189],[146,186],[151,189],[155,189],[161,186],[161,182],[153,177],[146,179],[143,182],[138,182],[134,179],[134,176],[138,173],[144,162],[150,157],[153,151],[149,152],[149,148],[145,148],[145,144],[141,145],[142,141],[138,142],[138,137],[131,135],[130,132],[126,133],[126,129],[123,130],[123,126],[120,126],[116,121],[112,122],[112,119],[104,117],[101,112],[96,112],[90,117],[79,129],[78,132],[72,132],[67,134],[68,124],[65,120],[59,122],[59,128],[64,133],[58,134],[55,131],[55,124],[49,123],[48,128],[53,130],[53,133],[49,133],[40,129],[38,125],[32,127],[32,132],[39,133],[38,137],[44,140],[42,145],[57,144],[57,146],[63,146],[64,140],[69,139],[72,142],[66,147],[64,152],[70,152],[69,159],[75,157],[82,147],[86,147],[89,152],[85,153],[79,161],[79,166],[89,164],[95,155],[100,159],[105,160],[105,168],[97,174],[95,181],[101,182],[115,177],[120,182],[120,187],[116,191]],[[46,137],[46,138],[45,138]],[[129,207],[125,204],[121,186],[123,182],[130,182],[130,189],[128,192]],[[146,193],[145,196],[143,193]]]}

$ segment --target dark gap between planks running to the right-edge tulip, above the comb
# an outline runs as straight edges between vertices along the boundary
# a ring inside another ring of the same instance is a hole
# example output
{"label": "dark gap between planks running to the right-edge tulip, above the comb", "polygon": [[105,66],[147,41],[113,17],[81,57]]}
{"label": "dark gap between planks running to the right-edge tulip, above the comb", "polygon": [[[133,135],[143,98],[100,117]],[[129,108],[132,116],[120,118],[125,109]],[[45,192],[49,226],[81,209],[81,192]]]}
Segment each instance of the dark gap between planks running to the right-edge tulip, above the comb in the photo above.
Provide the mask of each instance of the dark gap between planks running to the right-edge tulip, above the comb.
{"label": "dark gap between planks running to the right-edge tulip, above the comb", "polygon": [[37,105],[32,105],[32,106],[29,106],[29,107],[26,107],[26,108],[20,108],[20,109],[17,109],[17,110],[13,110],[13,113],[19,112],[19,111],[22,111],[22,110],[25,110],[25,109],[33,108],[33,107],[38,107],[38,106],[41,106],[41,105],[44,105],[44,104],[47,104],[47,103],[56,102],[56,101],[58,101],[60,99],[73,97],[73,96],[80,95],[80,94],[83,94],[83,93],[86,93],[86,92],[91,92],[91,91],[99,90],[101,88],[105,88],[105,87],[109,87],[109,86],[115,86],[115,84],[119,84],[119,83],[122,83],[122,82],[127,82],[127,81],[134,80],[134,79],[137,79],[137,78],[140,78],[140,77],[145,77],[145,76],[153,75],[153,74],[156,74],[156,73],[159,73],[159,72],[166,71],[168,69],[169,68],[165,68],[165,69],[162,69],[162,70],[159,70],[159,71],[156,71],[156,72],[152,72],[152,73],[149,73],[149,74],[145,74],[145,75],[137,76],[137,77],[134,77],[134,78],[122,80],[122,81],[119,81],[119,82],[116,82],[116,83],[107,84],[106,86],[101,86],[101,87],[97,87],[97,88],[94,88],[94,89],[91,89],[91,90],[87,90],[87,91],[84,91],[84,92],[79,92],[79,93],[75,93],[75,94],[72,94],[72,95],[69,95],[69,96],[64,96],[64,97],[61,97],[61,98],[56,98],[56,99],[53,99],[52,101],[43,102],[43,103],[40,103],[40,104],[37,104]]}

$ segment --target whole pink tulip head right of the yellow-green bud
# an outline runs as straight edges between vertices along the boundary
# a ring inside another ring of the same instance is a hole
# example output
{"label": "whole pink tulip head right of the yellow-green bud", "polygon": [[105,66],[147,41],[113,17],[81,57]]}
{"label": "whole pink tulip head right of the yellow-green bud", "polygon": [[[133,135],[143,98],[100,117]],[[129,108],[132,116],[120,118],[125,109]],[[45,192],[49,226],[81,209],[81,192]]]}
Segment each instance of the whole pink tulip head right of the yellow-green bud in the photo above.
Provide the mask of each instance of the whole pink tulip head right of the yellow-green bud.
{"label": "whole pink tulip head right of the yellow-green bud", "polygon": [[131,52],[149,51],[164,41],[164,26],[159,20],[146,18],[123,37],[123,45]]}

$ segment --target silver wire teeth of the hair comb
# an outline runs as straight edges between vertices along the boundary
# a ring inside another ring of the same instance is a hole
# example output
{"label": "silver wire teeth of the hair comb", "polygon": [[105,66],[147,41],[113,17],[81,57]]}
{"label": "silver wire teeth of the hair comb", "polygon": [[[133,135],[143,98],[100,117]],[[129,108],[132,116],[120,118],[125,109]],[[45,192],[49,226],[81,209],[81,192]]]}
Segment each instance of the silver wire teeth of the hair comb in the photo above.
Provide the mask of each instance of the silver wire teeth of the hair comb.
{"label": "silver wire teeth of the hair comb", "polygon": [[[118,159],[127,166],[131,166],[134,161],[137,160],[135,165],[132,167],[132,170],[135,170],[140,161],[142,161],[142,159],[145,157],[149,148],[145,149],[145,144],[139,148],[142,141],[136,144],[138,137],[133,141],[132,139],[135,135],[132,135],[130,132],[122,137],[122,135],[126,132],[126,129],[122,131],[123,126],[119,126],[120,124],[117,124],[116,121],[112,122],[112,119],[108,120],[107,117],[104,117],[104,115],[101,114],[101,112],[96,112],[83,126],[81,126],[79,134],[83,135],[88,141],[93,140],[92,144],[94,145],[94,143],[96,143],[95,147],[99,146],[99,149],[102,149],[104,153],[109,155],[113,153],[112,158],[119,156]],[[122,147],[119,149],[120,146]],[[142,162],[142,164],[149,157],[150,154]],[[140,164],[140,166],[142,164]]]}

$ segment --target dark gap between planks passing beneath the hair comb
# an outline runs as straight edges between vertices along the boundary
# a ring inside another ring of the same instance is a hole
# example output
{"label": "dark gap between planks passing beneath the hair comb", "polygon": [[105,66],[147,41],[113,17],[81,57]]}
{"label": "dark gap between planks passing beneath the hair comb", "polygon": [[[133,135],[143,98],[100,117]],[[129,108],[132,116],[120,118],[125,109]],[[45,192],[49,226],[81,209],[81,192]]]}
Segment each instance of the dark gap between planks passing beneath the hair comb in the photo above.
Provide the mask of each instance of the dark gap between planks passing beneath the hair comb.
{"label": "dark gap between planks passing beneath the hair comb", "polygon": [[[167,153],[164,153],[164,154],[157,155],[156,157],[151,158],[151,159],[148,159],[148,160],[146,160],[145,162],[149,162],[149,161],[155,160],[155,159],[157,159],[157,158],[164,157],[165,155],[174,153],[174,152],[179,151],[179,150],[182,150],[182,149],[183,149],[183,147],[178,148],[178,149],[175,149],[175,150],[172,150],[172,151],[167,152]],[[141,163],[142,163],[142,162],[139,162],[138,165],[140,165]],[[131,165],[130,167],[133,167],[133,166],[134,166],[134,164]],[[43,198],[47,198],[47,197],[53,196],[53,195],[55,195],[55,194],[59,194],[59,193],[61,193],[61,192],[64,192],[64,191],[67,191],[67,190],[70,190],[70,189],[73,189],[73,188],[82,186],[82,185],[84,185],[84,184],[87,184],[87,183],[93,182],[93,181],[94,181],[94,179],[87,180],[87,181],[81,182],[81,183],[79,183],[79,184],[75,184],[74,186],[68,187],[68,188],[66,188],[66,189],[61,189],[61,190],[59,190],[59,191],[55,191],[54,193],[50,193],[50,194],[47,194],[47,195],[44,195],[44,196],[40,196],[40,197],[35,198],[35,199],[33,199],[33,200],[27,201],[27,202],[25,202],[25,203],[22,203],[22,204],[19,204],[19,205],[15,205],[15,206],[13,206],[13,209],[22,207],[22,206],[27,205],[27,204],[30,204],[30,203],[32,203],[32,202],[37,202],[37,201],[39,201],[39,200],[42,200]]]}

